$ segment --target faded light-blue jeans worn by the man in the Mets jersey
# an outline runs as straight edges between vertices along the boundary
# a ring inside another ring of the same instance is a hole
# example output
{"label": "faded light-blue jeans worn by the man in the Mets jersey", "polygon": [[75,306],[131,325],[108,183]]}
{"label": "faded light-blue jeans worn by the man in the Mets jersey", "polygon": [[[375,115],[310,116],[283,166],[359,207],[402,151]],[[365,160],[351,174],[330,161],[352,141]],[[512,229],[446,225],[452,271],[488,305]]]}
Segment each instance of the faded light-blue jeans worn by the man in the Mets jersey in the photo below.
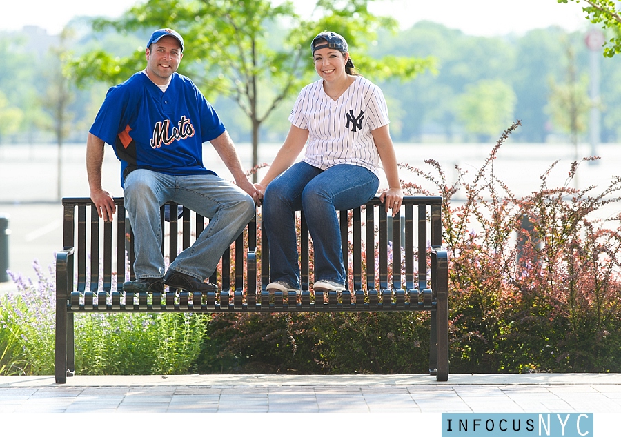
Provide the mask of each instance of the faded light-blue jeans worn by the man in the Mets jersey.
{"label": "faded light-blue jeans worn by the man in the Mets jersey", "polygon": [[226,248],[255,215],[252,197],[213,174],[171,176],[138,169],[127,176],[124,195],[135,236],[136,278],[164,275],[159,219],[159,209],[164,203],[179,203],[210,219],[195,243],[181,252],[169,267],[201,281],[215,272]]}

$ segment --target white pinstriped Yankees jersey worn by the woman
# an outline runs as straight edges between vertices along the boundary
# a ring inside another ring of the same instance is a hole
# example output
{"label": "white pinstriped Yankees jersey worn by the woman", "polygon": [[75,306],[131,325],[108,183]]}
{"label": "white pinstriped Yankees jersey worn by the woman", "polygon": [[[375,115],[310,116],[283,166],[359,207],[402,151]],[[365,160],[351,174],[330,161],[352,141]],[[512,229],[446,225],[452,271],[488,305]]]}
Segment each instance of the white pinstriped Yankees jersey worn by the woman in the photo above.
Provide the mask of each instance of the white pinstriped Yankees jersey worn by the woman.
{"label": "white pinstriped Yankees jersey worn by the woman", "polygon": [[371,130],[389,123],[382,90],[362,76],[333,101],[323,79],[306,85],[297,96],[289,121],[308,129],[303,161],[322,170],[336,164],[353,164],[377,174],[380,155]]}

